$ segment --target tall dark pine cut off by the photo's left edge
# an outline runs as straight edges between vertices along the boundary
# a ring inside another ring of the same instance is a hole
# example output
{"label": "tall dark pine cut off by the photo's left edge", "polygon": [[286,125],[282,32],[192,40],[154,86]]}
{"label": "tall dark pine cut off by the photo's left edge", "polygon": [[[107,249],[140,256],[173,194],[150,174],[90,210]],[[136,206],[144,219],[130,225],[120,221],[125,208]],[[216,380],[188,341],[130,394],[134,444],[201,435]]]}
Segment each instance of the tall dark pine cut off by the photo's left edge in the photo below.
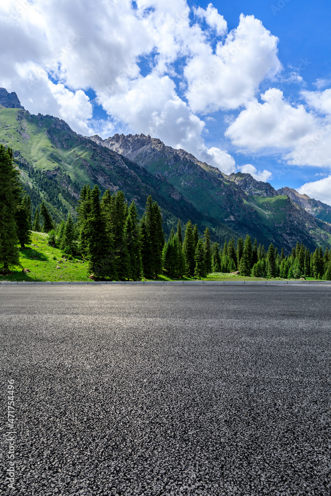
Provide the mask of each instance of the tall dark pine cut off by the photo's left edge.
{"label": "tall dark pine cut off by the photo's left edge", "polygon": [[19,265],[15,212],[21,188],[11,148],[0,145],[0,271]]}

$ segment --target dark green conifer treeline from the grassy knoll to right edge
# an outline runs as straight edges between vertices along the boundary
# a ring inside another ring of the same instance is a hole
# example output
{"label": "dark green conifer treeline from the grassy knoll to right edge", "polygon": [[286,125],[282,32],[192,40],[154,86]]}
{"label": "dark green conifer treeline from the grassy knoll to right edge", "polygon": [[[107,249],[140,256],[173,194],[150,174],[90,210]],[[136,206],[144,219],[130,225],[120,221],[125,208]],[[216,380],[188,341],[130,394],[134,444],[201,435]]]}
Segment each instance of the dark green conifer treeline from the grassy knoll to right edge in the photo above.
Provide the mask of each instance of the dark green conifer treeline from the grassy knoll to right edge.
{"label": "dark green conifer treeline from the grassy knoll to right edge", "polygon": [[[98,186],[93,190],[84,186],[79,200],[76,231],[71,217],[60,224],[59,239],[66,253],[78,250],[89,260],[89,270],[98,278],[133,279],[155,278],[163,271],[171,278],[205,277],[210,272],[255,277],[331,279],[331,253],[328,248],[316,248],[314,253],[297,243],[285,256],[271,243],[264,246],[252,241],[232,239],[223,247],[211,244],[209,229],[199,238],[198,226],[191,221],[182,233],[180,221],[177,232],[171,231],[165,243],[160,208],[151,196],[145,212],[138,221],[134,202],[128,207],[125,195],[107,190],[100,200]],[[75,241],[75,239],[77,241]]]}

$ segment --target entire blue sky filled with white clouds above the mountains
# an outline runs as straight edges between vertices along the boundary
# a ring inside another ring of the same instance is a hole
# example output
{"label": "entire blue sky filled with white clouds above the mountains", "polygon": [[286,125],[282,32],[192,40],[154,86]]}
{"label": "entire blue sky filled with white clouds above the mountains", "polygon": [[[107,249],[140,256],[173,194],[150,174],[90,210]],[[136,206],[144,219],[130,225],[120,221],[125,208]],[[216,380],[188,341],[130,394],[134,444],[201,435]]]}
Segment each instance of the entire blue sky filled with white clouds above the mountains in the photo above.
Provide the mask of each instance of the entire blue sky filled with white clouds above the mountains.
{"label": "entire blue sky filled with white clouds above the mountains", "polygon": [[0,86],[83,135],[159,137],[331,204],[331,4],[12,0]]}

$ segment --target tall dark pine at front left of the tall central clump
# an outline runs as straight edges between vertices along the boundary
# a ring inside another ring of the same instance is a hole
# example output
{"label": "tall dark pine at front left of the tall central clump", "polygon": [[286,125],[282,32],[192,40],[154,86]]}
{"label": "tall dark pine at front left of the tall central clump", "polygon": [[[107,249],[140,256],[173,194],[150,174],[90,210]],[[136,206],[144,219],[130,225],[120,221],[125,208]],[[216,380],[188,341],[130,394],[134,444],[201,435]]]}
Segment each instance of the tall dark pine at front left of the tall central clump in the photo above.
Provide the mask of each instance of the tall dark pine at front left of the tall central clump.
{"label": "tall dark pine at front left of the tall central clump", "polygon": [[86,235],[88,269],[98,279],[116,279],[113,252],[106,232],[106,222],[100,206],[100,190],[97,185],[91,191],[91,213],[86,223]]}

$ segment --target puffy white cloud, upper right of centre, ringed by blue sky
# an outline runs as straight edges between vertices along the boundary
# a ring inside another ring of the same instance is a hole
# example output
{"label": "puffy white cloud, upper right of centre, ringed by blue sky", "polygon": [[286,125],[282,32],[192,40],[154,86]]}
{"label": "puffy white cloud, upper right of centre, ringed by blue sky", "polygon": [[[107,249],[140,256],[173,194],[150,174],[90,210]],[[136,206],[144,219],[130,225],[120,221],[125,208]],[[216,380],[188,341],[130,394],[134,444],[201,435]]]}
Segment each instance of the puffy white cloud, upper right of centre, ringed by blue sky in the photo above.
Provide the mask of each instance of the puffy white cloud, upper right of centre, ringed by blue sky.
{"label": "puffy white cloud, upper right of centre, ringed by blue sky", "polygon": [[186,97],[194,112],[236,109],[254,98],[260,83],[277,74],[278,38],[253,15],[241,14],[239,26],[224,43],[199,46],[184,68]]}

